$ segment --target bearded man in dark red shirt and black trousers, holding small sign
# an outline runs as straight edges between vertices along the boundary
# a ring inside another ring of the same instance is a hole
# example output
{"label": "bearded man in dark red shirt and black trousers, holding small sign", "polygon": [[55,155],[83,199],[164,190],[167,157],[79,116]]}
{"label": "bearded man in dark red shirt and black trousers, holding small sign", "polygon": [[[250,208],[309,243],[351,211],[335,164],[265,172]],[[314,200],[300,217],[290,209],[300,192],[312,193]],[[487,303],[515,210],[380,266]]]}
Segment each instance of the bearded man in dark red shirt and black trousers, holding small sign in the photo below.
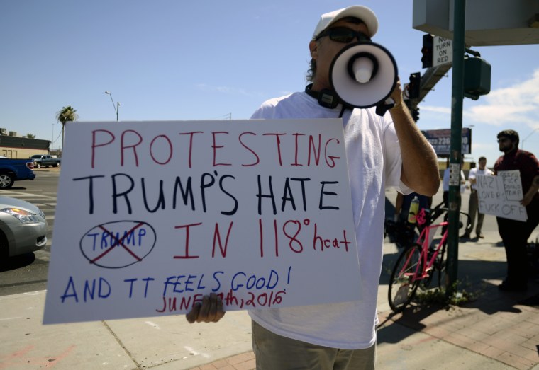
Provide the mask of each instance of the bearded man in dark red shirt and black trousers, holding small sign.
{"label": "bearded man in dark red shirt and black trousers, holding small sign", "polygon": [[539,224],[539,161],[529,151],[518,149],[518,132],[506,129],[498,134],[500,151],[504,155],[494,164],[494,174],[518,170],[522,180],[523,199],[527,221],[496,217],[498,231],[504,242],[507,258],[507,277],[499,285],[501,291],[526,291],[528,275],[526,243],[533,229]]}

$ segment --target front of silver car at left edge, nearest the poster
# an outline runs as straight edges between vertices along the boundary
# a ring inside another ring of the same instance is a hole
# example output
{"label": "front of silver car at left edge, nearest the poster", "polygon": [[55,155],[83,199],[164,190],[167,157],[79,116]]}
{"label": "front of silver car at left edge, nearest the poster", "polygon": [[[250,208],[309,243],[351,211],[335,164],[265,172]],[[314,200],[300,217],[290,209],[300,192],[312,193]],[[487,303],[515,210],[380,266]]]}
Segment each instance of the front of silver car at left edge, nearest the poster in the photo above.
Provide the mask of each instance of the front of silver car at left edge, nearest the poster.
{"label": "front of silver car at left edge, nearest the poster", "polygon": [[0,261],[41,249],[47,243],[45,214],[35,205],[0,197]]}

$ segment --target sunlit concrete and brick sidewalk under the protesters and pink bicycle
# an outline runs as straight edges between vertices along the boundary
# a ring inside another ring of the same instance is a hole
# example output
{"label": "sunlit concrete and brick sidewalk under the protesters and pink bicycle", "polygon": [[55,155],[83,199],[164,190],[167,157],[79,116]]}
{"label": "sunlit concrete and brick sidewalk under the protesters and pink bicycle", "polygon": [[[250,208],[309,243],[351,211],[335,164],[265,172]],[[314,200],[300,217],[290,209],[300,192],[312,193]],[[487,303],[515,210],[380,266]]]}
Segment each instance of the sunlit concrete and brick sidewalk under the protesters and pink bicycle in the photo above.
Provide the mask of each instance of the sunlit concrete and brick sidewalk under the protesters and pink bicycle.
{"label": "sunlit concrete and brick sidewalk under the protesters and pink bicycle", "polygon": [[[397,315],[387,284],[400,250],[384,244],[377,369],[539,369],[539,282],[530,279],[526,293],[499,291],[504,248],[497,231],[484,235],[459,244],[461,288],[477,299],[448,309],[412,305]],[[255,369],[243,311],[217,324],[165,316],[44,326],[44,302],[45,291],[0,296],[0,370]]]}

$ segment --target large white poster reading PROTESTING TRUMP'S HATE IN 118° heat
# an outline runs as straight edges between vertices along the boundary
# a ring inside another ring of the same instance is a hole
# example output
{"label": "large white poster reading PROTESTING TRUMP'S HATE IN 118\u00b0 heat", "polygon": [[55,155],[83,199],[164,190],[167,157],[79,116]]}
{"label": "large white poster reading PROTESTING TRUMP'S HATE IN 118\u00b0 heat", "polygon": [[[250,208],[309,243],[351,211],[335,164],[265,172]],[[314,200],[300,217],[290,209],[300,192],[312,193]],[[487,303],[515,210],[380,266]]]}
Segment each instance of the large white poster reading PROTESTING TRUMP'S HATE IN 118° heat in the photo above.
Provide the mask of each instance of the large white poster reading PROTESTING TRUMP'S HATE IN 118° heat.
{"label": "large white poster reading PROTESTING TRUMP'S HATE IN 118\u00b0 heat", "polygon": [[44,323],[360,299],[341,120],[73,122]]}

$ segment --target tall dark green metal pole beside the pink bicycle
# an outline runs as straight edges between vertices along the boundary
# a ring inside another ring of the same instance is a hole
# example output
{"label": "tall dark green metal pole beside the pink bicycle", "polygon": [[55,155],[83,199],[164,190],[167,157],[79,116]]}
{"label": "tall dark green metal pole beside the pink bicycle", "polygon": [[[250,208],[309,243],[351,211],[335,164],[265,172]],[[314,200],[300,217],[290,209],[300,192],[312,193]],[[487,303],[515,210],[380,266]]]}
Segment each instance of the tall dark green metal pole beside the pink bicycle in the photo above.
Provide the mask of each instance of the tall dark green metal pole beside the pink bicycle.
{"label": "tall dark green metal pole beside the pink bicycle", "polygon": [[448,212],[448,264],[449,284],[445,294],[455,290],[458,275],[460,171],[462,158],[462,103],[464,100],[464,53],[466,0],[455,0],[453,22],[453,75],[451,103],[451,146]]}

